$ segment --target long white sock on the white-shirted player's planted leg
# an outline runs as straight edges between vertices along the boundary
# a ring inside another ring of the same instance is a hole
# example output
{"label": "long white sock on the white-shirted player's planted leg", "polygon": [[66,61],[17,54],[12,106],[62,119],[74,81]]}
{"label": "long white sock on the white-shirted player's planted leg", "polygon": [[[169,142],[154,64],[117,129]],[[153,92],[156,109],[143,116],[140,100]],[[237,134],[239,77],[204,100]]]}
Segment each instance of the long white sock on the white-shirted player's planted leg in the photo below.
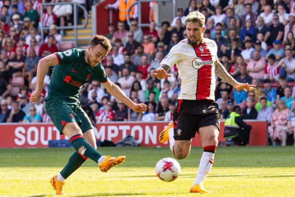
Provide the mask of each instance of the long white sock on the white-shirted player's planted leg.
{"label": "long white sock on the white-shirted player's planted leg", "polygon": [[197,173],[193,186],[203,183],[207,174],[210,172],[212,168],[212,164],[214,163],[214,155],[215,155],[214,153],[203,152],[203,155],[199,164],[199,171]]}

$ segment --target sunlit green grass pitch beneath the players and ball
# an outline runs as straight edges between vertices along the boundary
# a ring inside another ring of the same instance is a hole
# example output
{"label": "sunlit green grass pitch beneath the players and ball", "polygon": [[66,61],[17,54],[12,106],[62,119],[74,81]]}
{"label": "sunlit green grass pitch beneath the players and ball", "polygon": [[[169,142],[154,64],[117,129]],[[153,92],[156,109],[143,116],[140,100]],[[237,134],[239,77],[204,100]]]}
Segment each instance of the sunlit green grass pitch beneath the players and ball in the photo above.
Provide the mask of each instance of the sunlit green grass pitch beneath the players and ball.
{"label": "sunlit green grass pitch beneath the players and ball", "polygon": [[[99,148],[102,154],[126,155],[108,173],[87,161],[67,179],[69,197],[295,197],[295,147],[218,147],[204,186],[211,194],[190,194],[202,148],[180,160],[173,182],[155,175],[154,165],[173,157],[169,148]],[[50,197],[49,184],[67,162],[71,148],[0,149],[0,197]]]}

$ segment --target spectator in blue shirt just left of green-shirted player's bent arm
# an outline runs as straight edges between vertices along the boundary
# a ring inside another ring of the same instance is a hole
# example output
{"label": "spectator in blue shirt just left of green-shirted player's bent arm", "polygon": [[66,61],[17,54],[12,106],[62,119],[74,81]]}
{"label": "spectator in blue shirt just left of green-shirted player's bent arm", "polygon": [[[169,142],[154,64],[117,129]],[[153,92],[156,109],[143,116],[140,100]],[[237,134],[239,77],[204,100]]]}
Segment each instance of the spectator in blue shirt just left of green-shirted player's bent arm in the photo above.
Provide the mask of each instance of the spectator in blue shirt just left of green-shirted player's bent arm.
{"label": "spectator in blue shirt just left of green-shirted player's bent arm", "polygon": [[36,75],[39,57],[35,54],[35,50],[29,50],[29,56],[26,57],[24,66],[24,76],[28,78],[28,82]]}

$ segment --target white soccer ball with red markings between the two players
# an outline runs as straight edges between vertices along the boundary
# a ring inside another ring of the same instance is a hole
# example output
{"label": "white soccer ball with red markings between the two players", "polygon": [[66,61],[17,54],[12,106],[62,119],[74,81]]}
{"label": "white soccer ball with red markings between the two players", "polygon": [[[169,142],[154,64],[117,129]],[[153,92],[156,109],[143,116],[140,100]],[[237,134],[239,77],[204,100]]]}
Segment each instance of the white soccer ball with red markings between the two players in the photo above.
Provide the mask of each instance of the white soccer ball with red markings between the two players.
{"label": "white soccer ball with red markings between the two players", "polygon": [[175,159],[163,158],[156,164],[156,174],[163,181],[174,181],[179,173],[180,165]]}

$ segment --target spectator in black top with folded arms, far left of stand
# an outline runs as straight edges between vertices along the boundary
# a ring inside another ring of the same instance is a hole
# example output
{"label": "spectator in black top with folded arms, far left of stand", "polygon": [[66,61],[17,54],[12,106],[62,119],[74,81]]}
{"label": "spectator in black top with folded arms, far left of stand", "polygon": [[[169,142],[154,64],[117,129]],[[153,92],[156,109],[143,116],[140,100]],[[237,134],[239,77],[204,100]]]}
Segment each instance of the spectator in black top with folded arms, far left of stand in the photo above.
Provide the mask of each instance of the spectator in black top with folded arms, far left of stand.
{"label": "spectator in black top with folded arms, far left of stand", "polygon": [[26,58],[23,56],[21,47],[17,47],[15,52],[16,56],[9,61],[6,67],[11,77],[22,77]]}

